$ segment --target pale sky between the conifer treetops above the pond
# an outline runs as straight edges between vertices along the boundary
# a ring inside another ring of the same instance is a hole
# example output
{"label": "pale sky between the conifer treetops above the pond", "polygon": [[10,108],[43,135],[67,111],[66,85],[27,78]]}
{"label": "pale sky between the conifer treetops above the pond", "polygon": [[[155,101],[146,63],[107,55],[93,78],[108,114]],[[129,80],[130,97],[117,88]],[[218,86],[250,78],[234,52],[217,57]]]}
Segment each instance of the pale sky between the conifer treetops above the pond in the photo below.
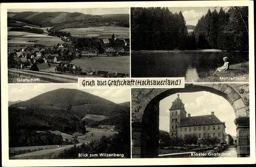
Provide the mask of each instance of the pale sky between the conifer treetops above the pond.
{"label": "pale sky between the conifer treetops above the pond", "polygon": [[[218,12],[220,11],[220,7],[173,7],[168,9],[172,13],[181,11],[186,20],[186,25],[196,26],[198,20],[207,13],[208,9],[214,11],[215,8]],[[226,7],[222,8],[225,10]]]}

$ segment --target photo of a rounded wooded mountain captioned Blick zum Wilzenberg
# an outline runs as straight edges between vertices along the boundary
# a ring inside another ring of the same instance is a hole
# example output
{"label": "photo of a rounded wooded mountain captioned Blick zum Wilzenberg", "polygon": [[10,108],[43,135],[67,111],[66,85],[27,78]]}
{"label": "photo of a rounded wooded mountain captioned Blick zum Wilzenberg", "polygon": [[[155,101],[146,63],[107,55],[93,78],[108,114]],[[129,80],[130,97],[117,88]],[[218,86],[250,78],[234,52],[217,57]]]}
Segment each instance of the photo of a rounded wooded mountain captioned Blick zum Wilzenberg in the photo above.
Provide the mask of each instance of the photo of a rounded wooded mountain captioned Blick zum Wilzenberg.
{"label": "photo of a rounded wooded mountain captioned Blick zum Wilzenberg", "polygon": [[9,84],[9,159],[131,158],[130,91]]}

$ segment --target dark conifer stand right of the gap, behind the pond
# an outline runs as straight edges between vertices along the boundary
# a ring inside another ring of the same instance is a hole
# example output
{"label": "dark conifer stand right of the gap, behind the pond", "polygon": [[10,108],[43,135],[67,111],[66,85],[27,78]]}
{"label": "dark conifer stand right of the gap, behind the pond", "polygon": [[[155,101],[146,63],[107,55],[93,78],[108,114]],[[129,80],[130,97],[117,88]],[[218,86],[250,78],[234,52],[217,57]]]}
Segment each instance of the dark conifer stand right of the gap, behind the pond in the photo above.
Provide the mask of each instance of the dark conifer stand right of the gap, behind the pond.
{"label": "dark conifer stand right of the gap, behind the pond", "polygon": [[198,20],[195,37],[199,49],[248,51],[248,7],[226,9],[208,10]]}

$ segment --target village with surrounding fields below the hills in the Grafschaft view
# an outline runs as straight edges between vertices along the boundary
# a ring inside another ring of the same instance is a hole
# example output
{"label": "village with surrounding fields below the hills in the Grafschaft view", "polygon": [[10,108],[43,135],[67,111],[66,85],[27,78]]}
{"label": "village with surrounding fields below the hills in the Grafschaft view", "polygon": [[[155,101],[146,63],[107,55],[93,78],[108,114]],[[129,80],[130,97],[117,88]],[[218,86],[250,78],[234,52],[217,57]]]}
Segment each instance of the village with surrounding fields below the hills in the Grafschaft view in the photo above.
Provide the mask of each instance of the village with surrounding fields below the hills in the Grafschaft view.
{"label": "village with surrounding fields below the hills in the Grafschaft view", "polygon": [[[8,18],[8,69],[76,77],[129,77],[130,32],[116,22],[32,27]],[[72,25],[73,26],[73,25]]]}

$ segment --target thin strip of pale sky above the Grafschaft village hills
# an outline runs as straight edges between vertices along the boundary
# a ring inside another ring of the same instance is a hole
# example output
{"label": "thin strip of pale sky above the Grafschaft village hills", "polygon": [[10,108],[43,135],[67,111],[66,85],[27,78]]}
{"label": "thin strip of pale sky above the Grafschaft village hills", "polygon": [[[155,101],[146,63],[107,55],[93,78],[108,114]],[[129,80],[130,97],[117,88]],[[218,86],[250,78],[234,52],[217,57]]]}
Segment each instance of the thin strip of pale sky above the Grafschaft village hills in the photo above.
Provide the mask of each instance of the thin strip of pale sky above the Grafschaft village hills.
{"label": "thin strip of pale sky above the Grafschaft village hills", "polygon": [[129,8],[67,8],[67,9],[8,9],[8,12],[79,12],[91,15],[103,14],[129,14]]}

